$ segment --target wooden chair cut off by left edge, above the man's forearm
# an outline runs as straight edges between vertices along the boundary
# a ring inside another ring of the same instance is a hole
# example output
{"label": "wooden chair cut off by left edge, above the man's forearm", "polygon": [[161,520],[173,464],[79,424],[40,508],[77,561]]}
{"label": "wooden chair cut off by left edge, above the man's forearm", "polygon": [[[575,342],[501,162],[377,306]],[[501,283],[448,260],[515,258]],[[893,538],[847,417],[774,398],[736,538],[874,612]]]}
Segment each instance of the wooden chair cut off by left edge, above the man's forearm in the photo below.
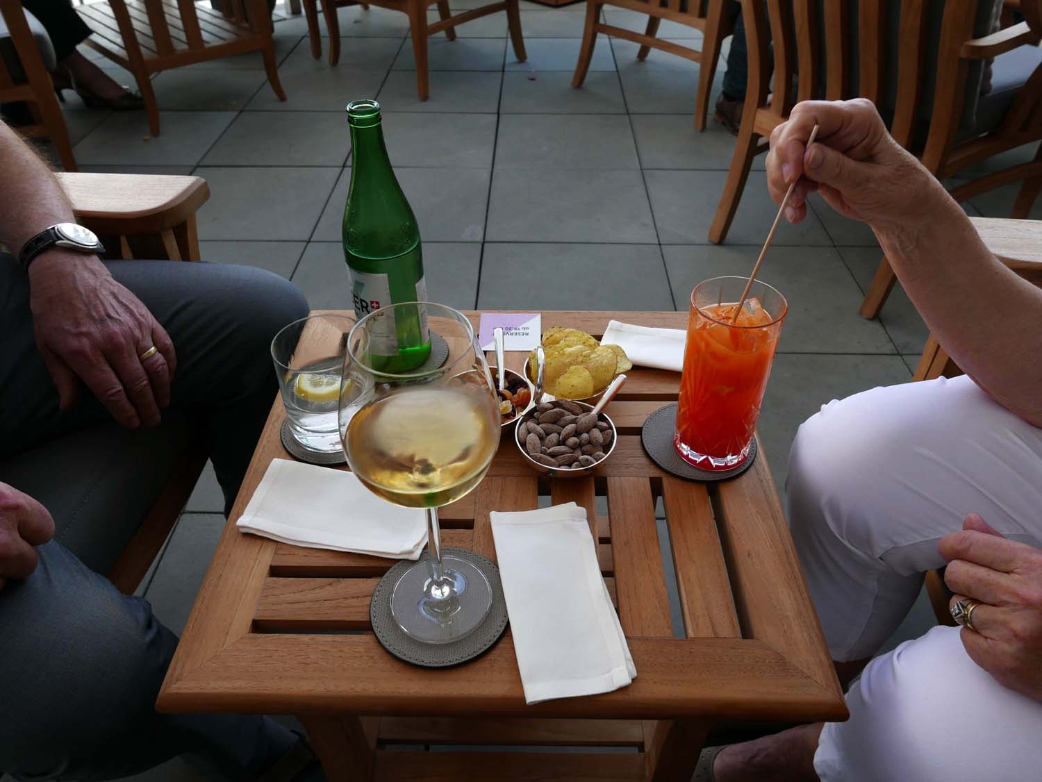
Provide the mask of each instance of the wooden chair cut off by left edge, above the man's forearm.
{"label": "wooden chair cut off by left edge, above the man's forearm", "polygon": [[[38,23],[39,24],[39,23]],[[33,137],[45,136],[54,144],[54,149],[66,171],[76,171],[76,158],[72,154],[72,141],[69,138],[69,128],[66,126],[65,115],[54,95],[54,82],[51,81],[48,65],[54,68],[54,50],[50,48],[47,39],[45,51],[41,52],[41,40],[46,39],[43,26],[36,30],[30,28],[29,21],[22,9],[22,0],[0,0],[0,39],[10,41],[17,64],[8,67],[4,57],[0,57],[0,103],[25,101],[33,115],[32,125],[18,128],[24,135]],[[34,34],[35,33],[35,34]],[[45,62],[44,55],[48,55]],[[14,66],[20,67],[21,73]]]}

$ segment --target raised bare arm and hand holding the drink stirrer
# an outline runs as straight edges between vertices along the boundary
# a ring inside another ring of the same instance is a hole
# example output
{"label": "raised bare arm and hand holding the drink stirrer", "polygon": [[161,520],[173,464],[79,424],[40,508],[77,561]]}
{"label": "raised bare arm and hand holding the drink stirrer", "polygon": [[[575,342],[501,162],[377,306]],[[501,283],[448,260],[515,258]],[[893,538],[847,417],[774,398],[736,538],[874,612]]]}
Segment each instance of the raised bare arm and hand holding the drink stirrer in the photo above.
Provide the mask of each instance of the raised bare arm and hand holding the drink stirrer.
{"label": "raised bare arm and hand holding the drink stirrer", "polygon": [[[805,147],[820,125],[817,143]],[[837,211],[871,226],[938,342],[976,383],[1042,426],[1042,289],[1007,269],[918,160],[887,133],[866,100],[807,101],[771,134],[771,194],[796,186],[787,217],[819,191]]]}

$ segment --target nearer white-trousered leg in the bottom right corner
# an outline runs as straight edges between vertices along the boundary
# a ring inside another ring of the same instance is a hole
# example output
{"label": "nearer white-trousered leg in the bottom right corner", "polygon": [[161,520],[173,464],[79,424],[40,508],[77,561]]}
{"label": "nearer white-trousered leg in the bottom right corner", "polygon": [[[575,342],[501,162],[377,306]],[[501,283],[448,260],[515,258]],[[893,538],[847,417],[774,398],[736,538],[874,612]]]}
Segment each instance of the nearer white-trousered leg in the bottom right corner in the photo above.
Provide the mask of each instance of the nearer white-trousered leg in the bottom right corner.
{"label": "nearer white-trousered leg in the bottom right corner", "polygon": [[847,692],[850,720],[821,732],[822,782],[1038,779],[1042,704],[998,684],[959,633],[936,627],[868,664]]}

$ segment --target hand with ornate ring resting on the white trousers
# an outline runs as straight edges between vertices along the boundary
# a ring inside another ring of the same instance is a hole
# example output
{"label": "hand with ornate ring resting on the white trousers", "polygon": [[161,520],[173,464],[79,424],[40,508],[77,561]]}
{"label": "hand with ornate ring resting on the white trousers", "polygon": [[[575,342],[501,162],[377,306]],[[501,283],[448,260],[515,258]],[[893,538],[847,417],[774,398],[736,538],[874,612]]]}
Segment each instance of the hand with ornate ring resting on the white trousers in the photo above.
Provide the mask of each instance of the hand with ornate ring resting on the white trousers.
{"label": "hand with ornate ring resting on the white trousers", "polygon": [[971,513],[941,538],[954,600],[972,598],[974,630],[963,646],[1002,686],[1042,702],[1042,549],[1009,540]]}

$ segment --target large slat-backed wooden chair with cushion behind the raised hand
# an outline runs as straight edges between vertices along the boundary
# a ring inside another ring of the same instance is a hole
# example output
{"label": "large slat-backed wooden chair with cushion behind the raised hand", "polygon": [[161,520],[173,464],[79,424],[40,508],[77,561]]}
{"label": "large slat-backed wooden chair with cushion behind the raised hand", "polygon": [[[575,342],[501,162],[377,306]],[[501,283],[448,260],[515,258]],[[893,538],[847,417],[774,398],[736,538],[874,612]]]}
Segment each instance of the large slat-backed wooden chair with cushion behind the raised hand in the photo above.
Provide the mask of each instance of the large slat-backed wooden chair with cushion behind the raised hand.
{"label": "large slat-backed wooden chair with cushion behind the raised hand", "polygon": [[[768,136],[788,119],[796,101],[869,98],[880,107],[898,143],[941,178],[1042,138],[1042,69],[1036,69],[1016,93],[997,127],[985,131],[973,125],[975,109],[985,105],[977,96],[982,61],[1037,45],[1042,39],[1042,26],[1034,22],[974,37],[974,32],[990,29],[993,2],[982,0],[978,7],[977,0],[862,0],[857,4],[769,0],[765,11],[762,0],[742,0],[749,81],[738,144],[710,239],[724,241],[753,156],[768,148]],[[1025,16],[1042,15],[1040,5],[1042,0],[1023,0],[1021,10]],[[938,42],[929,40],[935,23],[940,27]],[[1042,61],[1042,52],[1024,51]],[[857,84],[854,68],[860,72]],[[775,85],[795,82],[796,87],[775,90],[768,100],[772,70]],[[960,132],[971,137],[958,141]],[[1042,157],[981,177],[952,195],[966,199],[1018,180],[1024,185],[1015,212],[1026,215],[1042,185]],[[893,282],[893,272],[884,259],[862,305],[863,314],[875,316]]]}

